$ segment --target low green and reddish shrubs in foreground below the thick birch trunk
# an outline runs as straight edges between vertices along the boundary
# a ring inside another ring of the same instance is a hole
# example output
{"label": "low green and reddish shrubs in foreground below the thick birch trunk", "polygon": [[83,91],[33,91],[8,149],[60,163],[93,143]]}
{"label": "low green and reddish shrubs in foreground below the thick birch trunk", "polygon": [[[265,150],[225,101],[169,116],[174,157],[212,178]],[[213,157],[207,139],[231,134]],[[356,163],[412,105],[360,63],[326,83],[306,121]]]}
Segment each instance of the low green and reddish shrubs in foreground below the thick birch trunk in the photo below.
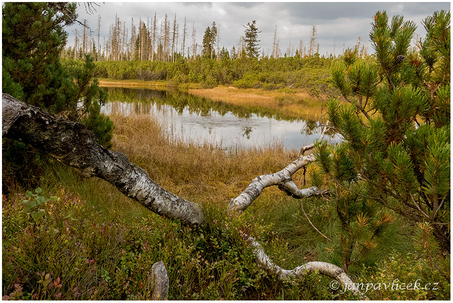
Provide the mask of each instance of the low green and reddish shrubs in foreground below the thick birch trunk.
{"label": "low green and reddish shrubs in foreground below the thick birch trunk", "polygon": [[[169,300],[333,298],[313,285],[319,275],[280,282],[260,268],[243,234],[259,238],[269,226],[216,203],[206,205],[206,225],[190,229],[155,214],[110,210],[106,217],[64,188],[56,194],[46,199],[38,189],[27,192],[27,204],[23,196],[3,200],[3,299],[149,300],[151,266],[160,260]],[[31,199],[44,220],[28,219]]]}

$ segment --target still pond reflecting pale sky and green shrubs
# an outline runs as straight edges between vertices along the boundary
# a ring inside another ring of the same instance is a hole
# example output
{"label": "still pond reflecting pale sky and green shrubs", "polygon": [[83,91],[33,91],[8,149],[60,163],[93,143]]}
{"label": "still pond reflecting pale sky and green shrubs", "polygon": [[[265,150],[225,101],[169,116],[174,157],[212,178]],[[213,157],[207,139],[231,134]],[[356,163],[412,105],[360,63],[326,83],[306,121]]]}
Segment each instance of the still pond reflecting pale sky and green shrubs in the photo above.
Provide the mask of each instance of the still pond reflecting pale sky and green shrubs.
{"label": "still pond reflecting pale sky and green shrubs", "polygon": [[[181,91],[107,87],[105,114],[146,115],[185,142],[223,150],[281,146],[299,150],[321,133],[319,121],[295,119],[271,109],[232,105]],[[339,141],[329,136],[330,143]]]}

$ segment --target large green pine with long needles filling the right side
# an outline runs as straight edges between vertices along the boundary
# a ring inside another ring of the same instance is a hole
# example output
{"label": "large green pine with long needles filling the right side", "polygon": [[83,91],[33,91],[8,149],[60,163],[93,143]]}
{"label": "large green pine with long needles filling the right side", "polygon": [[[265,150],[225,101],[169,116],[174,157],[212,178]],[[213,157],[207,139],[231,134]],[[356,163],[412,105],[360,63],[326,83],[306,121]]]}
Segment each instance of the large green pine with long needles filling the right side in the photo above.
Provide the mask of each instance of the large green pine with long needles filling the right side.
{"label": "large green pine with long needles filling the right side", "polygon": [[[345,141],[330,149],[318,143],[315,155],[341,187],[332,197],[338,207],[343,190],[378,202],[406,219],[429,223],[449,252],[450,12],[435,12],[425,28],[417,51],[410,48],[413,22],[395,16],[388,24],[386,12],[376,13],[370,33],[376,62],[348,51],[330,69],[330,81],[351,103],[330,101],[327,110]],[[342,221],[346,214],[357,213],[345,210]]]}

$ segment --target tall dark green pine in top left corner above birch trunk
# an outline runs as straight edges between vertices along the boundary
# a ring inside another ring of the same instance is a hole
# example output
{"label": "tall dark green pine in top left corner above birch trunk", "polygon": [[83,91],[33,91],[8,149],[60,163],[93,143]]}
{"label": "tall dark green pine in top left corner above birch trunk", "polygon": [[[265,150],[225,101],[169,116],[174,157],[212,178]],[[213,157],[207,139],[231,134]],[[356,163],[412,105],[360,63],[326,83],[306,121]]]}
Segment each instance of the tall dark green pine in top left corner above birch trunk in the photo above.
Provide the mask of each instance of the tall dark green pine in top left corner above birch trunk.
{"label": "tall dark green pine in top left corner above birch trunk", "polygon": [[2,5],[2,91],[29,104],[61,111],[71,89],[59,62],[66,24],[77,17],[75,3],[7,2]]}

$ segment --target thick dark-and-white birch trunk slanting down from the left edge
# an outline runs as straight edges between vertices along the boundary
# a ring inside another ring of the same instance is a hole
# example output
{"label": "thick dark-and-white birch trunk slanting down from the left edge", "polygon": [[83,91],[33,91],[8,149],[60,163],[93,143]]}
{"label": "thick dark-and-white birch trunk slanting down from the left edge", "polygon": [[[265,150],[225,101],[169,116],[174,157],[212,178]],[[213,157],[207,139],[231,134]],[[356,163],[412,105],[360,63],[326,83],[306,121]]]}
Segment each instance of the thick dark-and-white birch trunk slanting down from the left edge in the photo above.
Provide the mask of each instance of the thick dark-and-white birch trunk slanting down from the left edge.
{"label": "thick dark-and-white birch trunk slanting down from the left edge", "polygon": [[201,206],[165,191],[147,172],[120,152],[105,149],[79,122],[58,118],[2,94],[2,135],[54,156],[83,177],[99,177],[151,211],[196,226],[204,221]]}

